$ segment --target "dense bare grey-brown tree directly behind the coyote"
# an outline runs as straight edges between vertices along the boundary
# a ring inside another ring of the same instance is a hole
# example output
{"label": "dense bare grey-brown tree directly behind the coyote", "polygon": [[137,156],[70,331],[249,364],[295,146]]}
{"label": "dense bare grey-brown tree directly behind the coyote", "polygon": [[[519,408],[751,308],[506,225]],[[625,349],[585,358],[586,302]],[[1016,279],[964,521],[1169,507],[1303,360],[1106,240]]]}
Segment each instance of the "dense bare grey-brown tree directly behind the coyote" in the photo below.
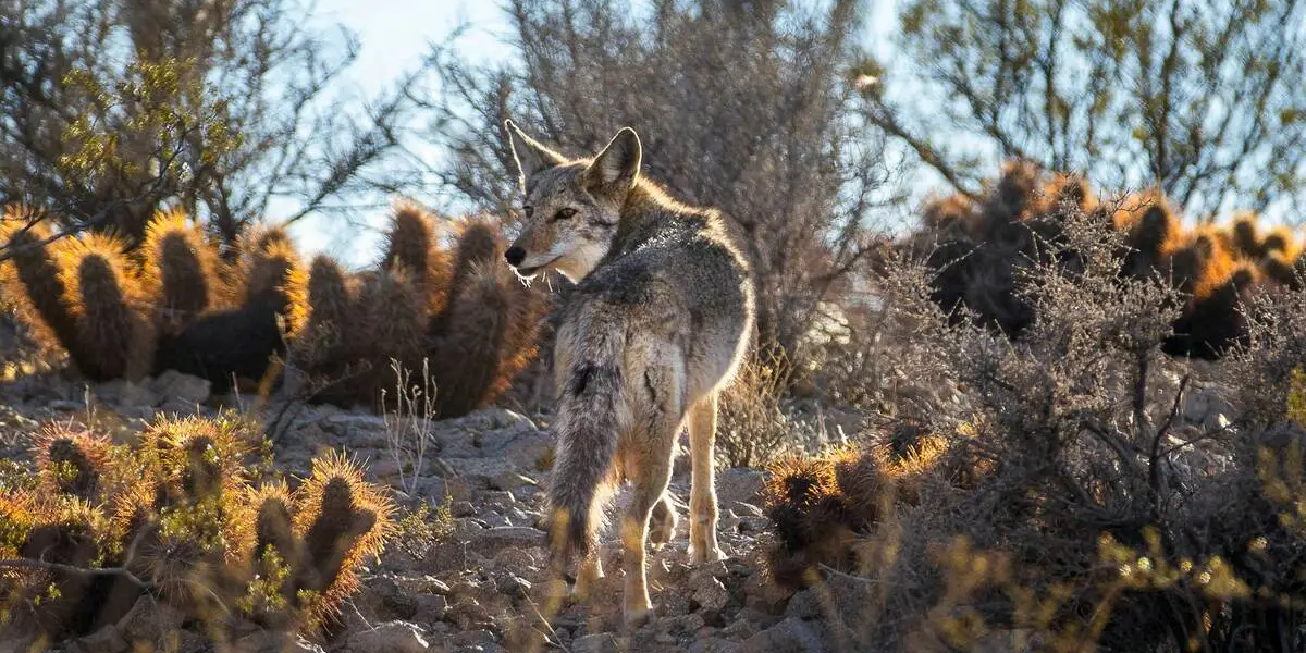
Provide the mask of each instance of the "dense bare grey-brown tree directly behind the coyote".
{"label": "dense bare grey-brown tree directly behind the coyote", "polygon": [[511,65],[430,57],[428,136],[451,154],[440,188],[516,210],[504,118],[571,154],[633,125],[650,178],[729,215],[755,268],[760,343],[793,353],[895,199],[849,77],[859,3],[512,0],[508,20]]}

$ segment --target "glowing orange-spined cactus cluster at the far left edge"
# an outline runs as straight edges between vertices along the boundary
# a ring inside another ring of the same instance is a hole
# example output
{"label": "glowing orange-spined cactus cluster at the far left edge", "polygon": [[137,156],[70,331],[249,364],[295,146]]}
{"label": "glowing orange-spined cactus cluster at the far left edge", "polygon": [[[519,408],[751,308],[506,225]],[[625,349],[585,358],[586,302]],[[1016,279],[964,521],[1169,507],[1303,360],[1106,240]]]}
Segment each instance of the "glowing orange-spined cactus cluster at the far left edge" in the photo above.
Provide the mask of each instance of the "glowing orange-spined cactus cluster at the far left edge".
{"label": "glowing orange-spined cactus cluster at the far left edge", "polygon": [[240,264],[230,265],[178,210],[155,214],[133,251],[98,232],[46,243],[46,221],[21,206],[5,208],[0,239],[13,253],[3,277],[20,319],[95,381],[163,370],[219,390],[234,377],[259,380],[283,350],[278,320],[303,304],[285,234],[281,244],[242,243]]}

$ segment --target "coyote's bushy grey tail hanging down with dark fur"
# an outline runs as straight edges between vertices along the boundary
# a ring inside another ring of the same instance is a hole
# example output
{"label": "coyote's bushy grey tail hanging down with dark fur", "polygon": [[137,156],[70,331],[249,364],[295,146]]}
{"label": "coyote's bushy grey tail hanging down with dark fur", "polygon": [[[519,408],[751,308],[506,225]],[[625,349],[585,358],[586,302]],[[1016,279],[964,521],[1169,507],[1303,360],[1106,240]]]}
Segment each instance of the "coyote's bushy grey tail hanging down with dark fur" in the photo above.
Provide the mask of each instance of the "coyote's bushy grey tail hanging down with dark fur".
{"label": "coyote's bushy grey tail hanging down with dark fur", "polygon": [[572,343],[576,358],[560,389],[554,426],[558,449],[549,483],[549,516],[556,565],[593,549],[606,494],[614,485],[616,440],[629,421],[622,390],[626,325],[611,315],[580,324],[584,332]]}

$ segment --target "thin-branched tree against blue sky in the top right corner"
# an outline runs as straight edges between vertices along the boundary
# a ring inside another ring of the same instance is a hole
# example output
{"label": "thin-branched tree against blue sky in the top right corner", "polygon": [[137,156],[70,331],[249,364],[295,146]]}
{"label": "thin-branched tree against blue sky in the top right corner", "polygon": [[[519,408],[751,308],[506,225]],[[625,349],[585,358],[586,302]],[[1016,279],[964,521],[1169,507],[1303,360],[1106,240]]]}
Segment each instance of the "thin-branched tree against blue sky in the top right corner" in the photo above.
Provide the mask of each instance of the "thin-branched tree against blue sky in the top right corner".
{"label": "thin-branched tree against blue sky in the top right corner", "polygon": [[1156,184],[1192,214],[1301,208],[1299,0],[912,0],[872,121],[978,192],[986,155]]}

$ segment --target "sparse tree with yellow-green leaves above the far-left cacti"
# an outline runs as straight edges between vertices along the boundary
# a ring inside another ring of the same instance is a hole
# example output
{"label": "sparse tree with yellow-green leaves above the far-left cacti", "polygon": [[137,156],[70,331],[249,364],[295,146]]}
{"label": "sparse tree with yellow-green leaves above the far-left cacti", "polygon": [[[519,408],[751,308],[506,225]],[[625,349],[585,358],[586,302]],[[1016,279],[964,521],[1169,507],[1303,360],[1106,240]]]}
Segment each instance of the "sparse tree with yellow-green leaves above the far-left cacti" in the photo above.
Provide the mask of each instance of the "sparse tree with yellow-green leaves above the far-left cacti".
{"label": "sparse tree with yellow-green leaves above the far-left cacti", "polygon": [[0,0],[0,201],[127,236],[180,202],[231,240],[277,197],[296,219],[385,185],[404,94],[340,94],[357,43],[311,16],[294,0]]}

